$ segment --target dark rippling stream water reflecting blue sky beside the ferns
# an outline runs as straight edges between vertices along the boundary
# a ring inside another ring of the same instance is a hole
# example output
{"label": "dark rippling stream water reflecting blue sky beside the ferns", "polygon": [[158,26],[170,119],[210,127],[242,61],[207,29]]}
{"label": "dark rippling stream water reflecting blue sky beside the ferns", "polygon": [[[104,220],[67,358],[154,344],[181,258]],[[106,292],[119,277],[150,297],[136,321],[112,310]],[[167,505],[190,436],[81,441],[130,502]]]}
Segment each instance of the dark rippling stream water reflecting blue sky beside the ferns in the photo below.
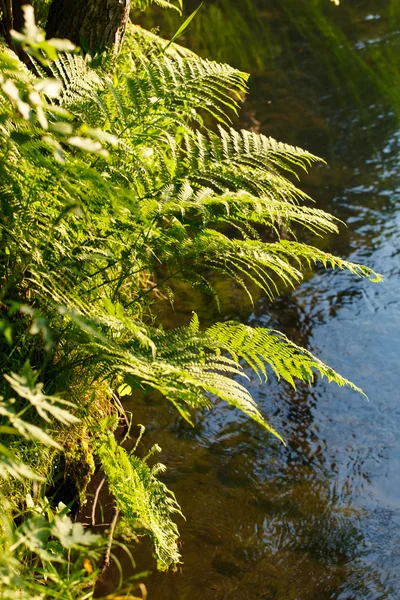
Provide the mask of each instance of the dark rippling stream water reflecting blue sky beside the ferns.
{"label": "dark rippling stream water reflecting blue sky beside the ferns", "polygon": [[[268,20],[276,2],[264,4]],[[326,4],[348,48],[337,39],[322,56],[328,46],[316,21],[307,33],[289,10],[296,0],[282,1],[273,17],[279,51],[252,78],[243,123],[328,161],[304,186],[348,229],[319,243],[385,282],[321,269],[254,309],[241,298],[229,309],[227,289],[222,318],[283,330],[361,385],[369,402],[324,381],[296,392],[273,377],[259,386],[249,373],[287,448],[222,403],[194,429],[164,403],[133,405],[135,422],[152,423],[147,443],[163,448],[165,480],[187,517],[179,524],[182,570],[154,573],[146,582],[152,600],[400,598],[400,79],[394,63],[383,83],[367,80],[357,63],[372,64],[363,53],[373,46],[398,66],[400,27],[389,22],[385,0],[342,0],[351,13]],[[352,79],[344,81],[349,49]],[[154,568],[140,556],[138,566]]]}

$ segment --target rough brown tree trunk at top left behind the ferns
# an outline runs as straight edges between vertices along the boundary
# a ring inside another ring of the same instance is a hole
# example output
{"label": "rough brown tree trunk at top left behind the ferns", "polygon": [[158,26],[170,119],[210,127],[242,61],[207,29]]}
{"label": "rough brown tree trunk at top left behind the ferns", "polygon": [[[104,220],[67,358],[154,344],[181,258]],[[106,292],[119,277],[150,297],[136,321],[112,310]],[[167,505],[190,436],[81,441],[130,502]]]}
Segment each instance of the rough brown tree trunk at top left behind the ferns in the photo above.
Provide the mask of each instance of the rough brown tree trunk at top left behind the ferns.
{"label": "rough brown tree trunk at top left behind the ferns", "polygon": [[53,0],[47,37],[67,38],[91,53],[106,48],[118,53],[130,4],[131,0]]}

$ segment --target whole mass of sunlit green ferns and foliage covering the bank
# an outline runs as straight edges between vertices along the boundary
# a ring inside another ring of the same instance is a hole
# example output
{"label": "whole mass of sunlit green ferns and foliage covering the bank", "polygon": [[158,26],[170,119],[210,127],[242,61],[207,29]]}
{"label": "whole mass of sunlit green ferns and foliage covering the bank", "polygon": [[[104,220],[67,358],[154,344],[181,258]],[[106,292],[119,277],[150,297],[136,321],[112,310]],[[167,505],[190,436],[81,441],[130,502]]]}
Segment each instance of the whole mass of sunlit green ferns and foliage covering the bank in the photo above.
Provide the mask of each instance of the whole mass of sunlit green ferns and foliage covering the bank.
{"label": "whole mass of sunlit green ferns and foliage covering the bank", "polygon": [[[47,445],[43,499],[54,456],[75,429],[75,440],[85,432],[125,523],[150,536],[167,568],[179,561],[171,515],[180,509],[156,477],[159,465],[99,433],[99,419],[116,414],[113,390],[157,390],[188,421],[219,397],[280,437],[239,383],[241,360],[264,377],[269,365],[292,385],[316,370],[358,388],[276,331],[232,322],[201,331],[196,317],[165,331],[155,293],[179,278],[215,296],[216,272],[250,297],[254,285],[273,297],[316,262],[379,275],[299,241],[303,228],[338,227],[292,182],[318,159],[230,128],[247,75],[134,27],[116,65],[95,64],[45,40],[30,9],[26,16],[16,39],[32,72],[0,51],[0,433],[24,438],[0,448],[1,475],[34,477],[26,444],[42,453]],[[64,521],[61,537],[55,523],[43,523],[46,539],[79,549],[87,534]],[[26,527],[36,536],[41,522],[22,526],[25,546]],[[39,560],[46,544],[28,550]],[[7,573],[17,577],[15,560]]]}

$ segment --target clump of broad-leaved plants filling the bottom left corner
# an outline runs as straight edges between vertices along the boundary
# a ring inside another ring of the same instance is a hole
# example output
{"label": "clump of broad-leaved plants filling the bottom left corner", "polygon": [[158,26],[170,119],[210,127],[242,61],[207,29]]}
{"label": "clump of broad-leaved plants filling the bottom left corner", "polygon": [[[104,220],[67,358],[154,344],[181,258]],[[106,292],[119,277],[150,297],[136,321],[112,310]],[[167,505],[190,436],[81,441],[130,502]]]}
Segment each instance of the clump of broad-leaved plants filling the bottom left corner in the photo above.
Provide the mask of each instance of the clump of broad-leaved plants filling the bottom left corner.
{"label": "clump of broad-leaved plants filling the bottom left corner", "polygon": [[0,597],[89,599],[98,576],[102,539],[74,523],[68,508],[26,499],[22,524],[9,530],[0,557]]}

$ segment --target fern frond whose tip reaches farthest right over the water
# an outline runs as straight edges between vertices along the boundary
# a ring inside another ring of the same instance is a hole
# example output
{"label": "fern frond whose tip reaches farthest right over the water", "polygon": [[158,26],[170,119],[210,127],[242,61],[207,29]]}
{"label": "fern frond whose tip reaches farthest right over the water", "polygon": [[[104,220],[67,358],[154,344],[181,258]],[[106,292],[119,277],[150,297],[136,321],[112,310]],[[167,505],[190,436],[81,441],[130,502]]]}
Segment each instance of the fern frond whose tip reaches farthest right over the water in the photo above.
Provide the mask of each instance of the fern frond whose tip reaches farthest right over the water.
{"label": "fern frond whose tip reaches farthest right over the water", "polygon": [[[322,262],[325,267],[347,269],[351,273],[379,281],[380,275],[368,267],[343,260],[307,244],[279,240],[266,243],[233,239],[215,229],[203,227],[189,235],[179,222],[152,238],[158,256],[190,281],[204,268],[212,268],[234,279],[250,296],[250,282],[272,299],[282,284],[293,287],[303,278],[303,266]],[[280,286],[280,287],[279,287]]]}

